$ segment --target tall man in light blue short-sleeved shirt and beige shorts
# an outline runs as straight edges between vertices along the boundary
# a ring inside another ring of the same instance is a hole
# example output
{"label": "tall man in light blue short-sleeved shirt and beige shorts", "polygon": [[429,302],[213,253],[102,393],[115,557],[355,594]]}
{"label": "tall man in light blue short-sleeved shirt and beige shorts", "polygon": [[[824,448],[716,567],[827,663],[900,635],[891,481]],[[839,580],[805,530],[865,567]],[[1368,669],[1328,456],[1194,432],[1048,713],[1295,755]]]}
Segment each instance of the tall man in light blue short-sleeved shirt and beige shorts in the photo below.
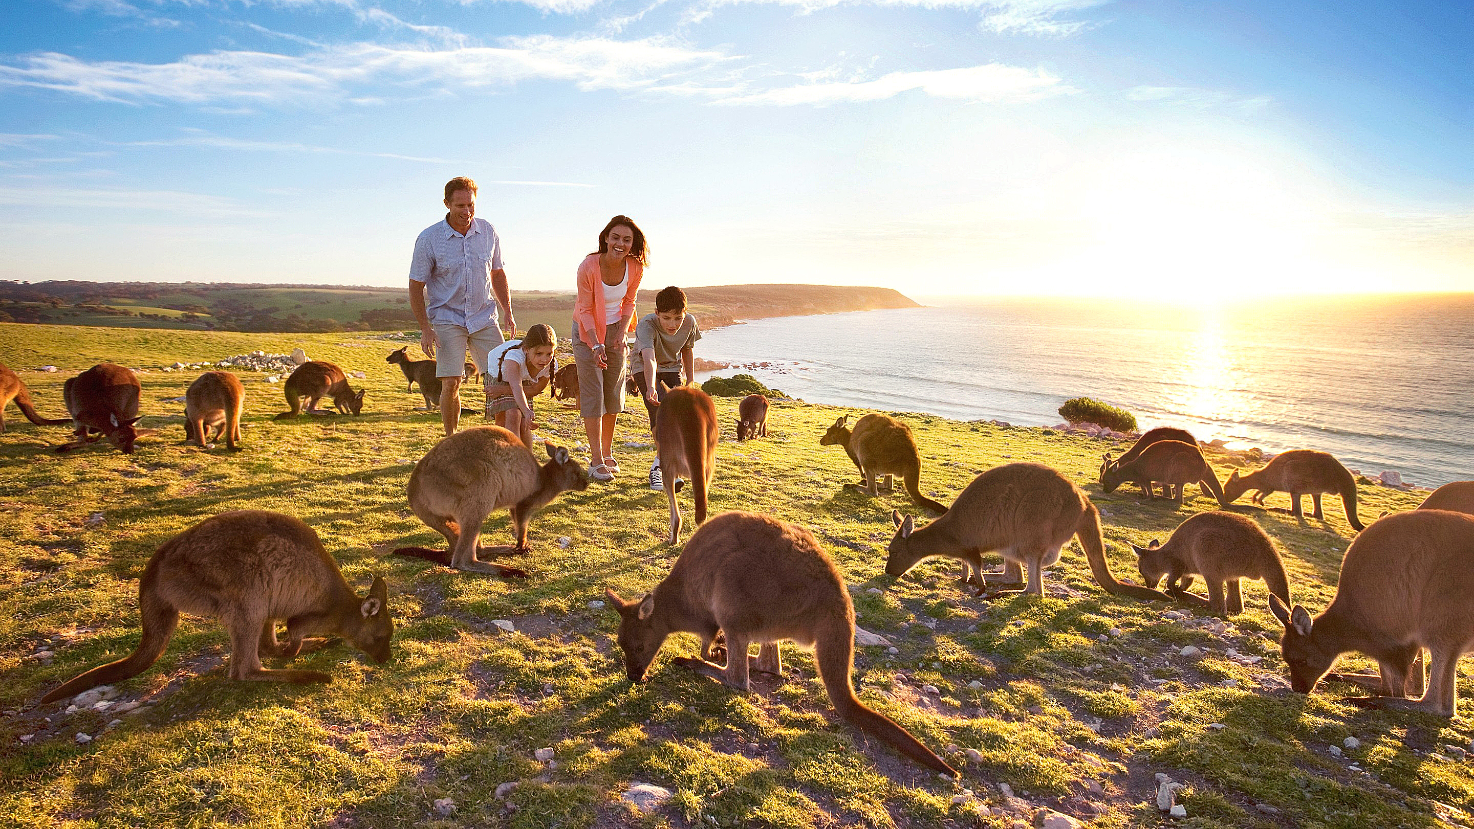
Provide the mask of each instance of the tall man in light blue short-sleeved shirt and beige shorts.
{"label": "tall man in light blue short-sleeved shirt and beige shorts", "polygon": [[501,331],[511,337],[517,322],[501,268],[501,240],[491,222],[476,218],[476,183],[464,175],[447,181],[445,208],[445,219],[414,240],[410,308],[420,324],[420,350],[435,358],[441,380],[441,424],[445,434],[454,434],[467,350],[476,371],[486,374],[486,353],[501,345]]}

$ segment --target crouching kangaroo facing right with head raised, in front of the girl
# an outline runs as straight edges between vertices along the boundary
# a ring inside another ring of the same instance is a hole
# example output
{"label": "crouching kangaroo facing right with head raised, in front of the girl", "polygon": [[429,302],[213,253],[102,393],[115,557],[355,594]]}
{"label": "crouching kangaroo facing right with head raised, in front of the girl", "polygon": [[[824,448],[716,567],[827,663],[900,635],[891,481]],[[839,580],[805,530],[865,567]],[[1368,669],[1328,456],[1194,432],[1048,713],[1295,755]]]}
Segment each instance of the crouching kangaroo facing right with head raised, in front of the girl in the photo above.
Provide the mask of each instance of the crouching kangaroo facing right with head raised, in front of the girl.
{"label": "crouching kangaroo facing right with head raised, in front of the girl", "polygon": [[457,570],[526,576],[516,567],[479,561],[481,526],[495,509],[511,508],[517,545],[526,554],[528,523],[560,492],[588,489],[584,467],[567,449],[545,443],[548,462],[538,465],[532,451],[500,426],[476,426],[451,434],[430,448],[410,473],[410,509],[445,536],[448,551],[401,546],[398,555],[426,558]]}

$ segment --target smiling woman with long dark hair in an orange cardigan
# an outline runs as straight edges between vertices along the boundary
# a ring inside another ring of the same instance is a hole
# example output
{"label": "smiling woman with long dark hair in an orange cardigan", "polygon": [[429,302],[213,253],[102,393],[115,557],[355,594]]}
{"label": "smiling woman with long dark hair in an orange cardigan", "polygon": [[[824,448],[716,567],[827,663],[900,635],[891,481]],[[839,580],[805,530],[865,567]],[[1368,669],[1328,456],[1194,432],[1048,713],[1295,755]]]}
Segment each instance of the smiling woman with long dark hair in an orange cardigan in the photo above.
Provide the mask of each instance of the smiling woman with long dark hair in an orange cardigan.
{"label": "smiling woman with long dark hair in an orange cardigan", "polygon": [[588,433],[588,477],[594,480],[610,480],[619,471],[613,443],[615,417],[625,411],[625,337],[647,256],[640,227],[629,216],[615,216],[598,234],[598,252],[578,267],[573,362]]}

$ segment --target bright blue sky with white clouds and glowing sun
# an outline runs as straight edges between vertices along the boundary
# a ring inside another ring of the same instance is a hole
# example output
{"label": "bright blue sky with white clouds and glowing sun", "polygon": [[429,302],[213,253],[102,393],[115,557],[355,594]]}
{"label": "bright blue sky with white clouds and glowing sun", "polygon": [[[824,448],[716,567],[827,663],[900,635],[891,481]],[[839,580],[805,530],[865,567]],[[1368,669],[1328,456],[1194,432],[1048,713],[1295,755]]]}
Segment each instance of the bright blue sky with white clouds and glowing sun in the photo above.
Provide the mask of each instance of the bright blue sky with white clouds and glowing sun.
{"label": "bright blue sky with white clouds and glowing sun", "polygon": [[0,278],[1474,290],[1474,12],[1098,0],[7,0]]}

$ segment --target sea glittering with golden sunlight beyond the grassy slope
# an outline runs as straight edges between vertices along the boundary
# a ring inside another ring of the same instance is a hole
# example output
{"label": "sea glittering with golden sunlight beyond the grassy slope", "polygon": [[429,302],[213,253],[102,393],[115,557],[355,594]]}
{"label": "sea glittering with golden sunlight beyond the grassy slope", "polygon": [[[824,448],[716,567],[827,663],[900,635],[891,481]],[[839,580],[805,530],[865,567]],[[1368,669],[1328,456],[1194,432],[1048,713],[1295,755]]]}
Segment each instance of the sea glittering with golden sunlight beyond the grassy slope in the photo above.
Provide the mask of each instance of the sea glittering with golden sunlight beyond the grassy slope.
{"label": "sea glittering with golden sunlight beyond the grassy slope", "polygon": [[1474,294],[1216,308],[935,297],[927,308],[756,320],[697,356],[815,403],[1054,426],[1069,398],[1266,452],[1319,449],[1418,486],[1474,479]]}

